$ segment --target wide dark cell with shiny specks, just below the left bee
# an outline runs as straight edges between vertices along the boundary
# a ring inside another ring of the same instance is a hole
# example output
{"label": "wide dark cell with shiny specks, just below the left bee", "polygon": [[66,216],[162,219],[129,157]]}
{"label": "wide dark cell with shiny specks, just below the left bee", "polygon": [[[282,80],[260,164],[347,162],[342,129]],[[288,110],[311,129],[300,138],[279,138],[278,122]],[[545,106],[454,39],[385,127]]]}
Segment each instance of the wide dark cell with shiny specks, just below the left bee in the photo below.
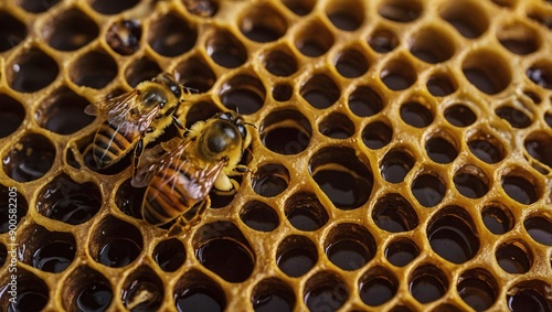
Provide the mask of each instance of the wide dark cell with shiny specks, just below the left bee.
{"label": "wide dark cell with shiny specks, just below the left bee", "polygon": [[66,174],[56,176],[40,192],[36,211],[49,218],[71,225],[89,220],[102,206],[96,184],[78,183]]}

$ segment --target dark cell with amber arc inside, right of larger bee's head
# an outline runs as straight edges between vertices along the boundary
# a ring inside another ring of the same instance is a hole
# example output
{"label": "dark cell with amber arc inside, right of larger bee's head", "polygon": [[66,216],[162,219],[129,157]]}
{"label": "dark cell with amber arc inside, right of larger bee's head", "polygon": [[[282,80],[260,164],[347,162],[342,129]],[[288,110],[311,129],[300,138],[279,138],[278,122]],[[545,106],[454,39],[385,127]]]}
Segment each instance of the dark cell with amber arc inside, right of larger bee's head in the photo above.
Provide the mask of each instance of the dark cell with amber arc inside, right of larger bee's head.
{"label": "dark cell with amber arc inside, right of larger bee's head", "polygon": [[274,110],[259,127],[263,144],[279,154],[297,154],[310,142],[312,128],[308,119],[296,109]]}

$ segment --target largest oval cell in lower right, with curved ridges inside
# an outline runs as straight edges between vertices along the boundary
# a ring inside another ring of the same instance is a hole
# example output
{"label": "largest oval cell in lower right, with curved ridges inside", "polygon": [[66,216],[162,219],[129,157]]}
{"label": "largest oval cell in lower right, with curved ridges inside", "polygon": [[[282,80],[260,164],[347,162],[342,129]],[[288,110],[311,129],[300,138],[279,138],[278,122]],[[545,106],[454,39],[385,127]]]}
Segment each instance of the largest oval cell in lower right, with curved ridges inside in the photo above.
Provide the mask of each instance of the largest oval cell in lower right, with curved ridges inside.
{"label": "largest oval cell in lower right, with curved ridges inside", "polygon": [[479,250],[479,237],[469,214],[459,206],[442,208],[427,226],[433,251],[453,263],[469,261]]}

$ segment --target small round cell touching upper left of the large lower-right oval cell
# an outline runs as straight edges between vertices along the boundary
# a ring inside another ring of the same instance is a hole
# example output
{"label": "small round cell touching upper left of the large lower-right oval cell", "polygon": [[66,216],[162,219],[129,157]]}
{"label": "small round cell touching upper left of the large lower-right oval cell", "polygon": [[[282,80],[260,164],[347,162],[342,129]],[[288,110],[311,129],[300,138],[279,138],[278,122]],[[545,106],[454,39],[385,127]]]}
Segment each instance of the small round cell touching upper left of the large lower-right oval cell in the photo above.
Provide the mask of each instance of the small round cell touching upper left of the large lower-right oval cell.
{"label": "small round cell touching upper left of the large lower-right oval cell", "polygon": [[424,207],[434,207],[446,193],[445,183],[437,173],[420,173],[411,185],[411,192]]}

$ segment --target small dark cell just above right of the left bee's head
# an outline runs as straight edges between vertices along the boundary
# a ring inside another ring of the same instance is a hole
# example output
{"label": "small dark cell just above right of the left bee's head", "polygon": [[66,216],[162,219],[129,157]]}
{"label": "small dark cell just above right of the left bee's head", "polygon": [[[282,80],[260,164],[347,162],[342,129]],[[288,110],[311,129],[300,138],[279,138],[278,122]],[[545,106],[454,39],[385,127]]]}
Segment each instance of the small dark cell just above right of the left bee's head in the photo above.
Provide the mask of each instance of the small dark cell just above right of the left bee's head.
{"label": "small dark cell just above right of the left bee's head", "polygon": [[194,93],[206,93],[216,82],[216,76],[211,67],[199,56],[183,61],[174,71],[180,74],[179,83]]}

